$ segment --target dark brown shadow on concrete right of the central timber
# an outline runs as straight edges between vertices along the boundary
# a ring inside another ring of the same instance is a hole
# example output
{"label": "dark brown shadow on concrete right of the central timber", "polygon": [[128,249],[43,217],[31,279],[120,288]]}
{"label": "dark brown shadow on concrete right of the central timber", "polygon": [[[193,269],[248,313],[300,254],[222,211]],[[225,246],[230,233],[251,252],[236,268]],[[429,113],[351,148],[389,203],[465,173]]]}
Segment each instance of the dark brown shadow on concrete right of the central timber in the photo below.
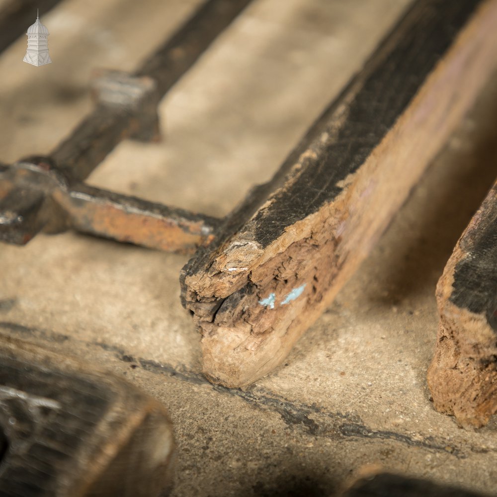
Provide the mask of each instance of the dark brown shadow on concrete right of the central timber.
{"label": "dark brown shadow on concrete right of the central timber", "polygon": [[[414,188],[379,247],[370,301],[396,305],[435,286],[452,250],[497,177],[497,74]],[[370,279],[370,278],[368,278]],[[381,289],[380,289],[381,290]]]}

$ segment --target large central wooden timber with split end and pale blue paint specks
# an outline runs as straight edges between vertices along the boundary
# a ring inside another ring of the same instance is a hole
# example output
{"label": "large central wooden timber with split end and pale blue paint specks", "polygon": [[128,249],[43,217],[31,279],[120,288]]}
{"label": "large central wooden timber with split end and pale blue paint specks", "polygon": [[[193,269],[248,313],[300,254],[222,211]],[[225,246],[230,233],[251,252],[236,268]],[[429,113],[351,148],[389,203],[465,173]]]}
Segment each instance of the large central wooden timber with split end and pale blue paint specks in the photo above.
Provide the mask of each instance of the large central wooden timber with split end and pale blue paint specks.
{"label": "large central wooden timber with split end and pale blue paint specks", "polygon": [[248,385],[367,255],[496,65],[497,1],[417,1],[181,274],[204,372]]}

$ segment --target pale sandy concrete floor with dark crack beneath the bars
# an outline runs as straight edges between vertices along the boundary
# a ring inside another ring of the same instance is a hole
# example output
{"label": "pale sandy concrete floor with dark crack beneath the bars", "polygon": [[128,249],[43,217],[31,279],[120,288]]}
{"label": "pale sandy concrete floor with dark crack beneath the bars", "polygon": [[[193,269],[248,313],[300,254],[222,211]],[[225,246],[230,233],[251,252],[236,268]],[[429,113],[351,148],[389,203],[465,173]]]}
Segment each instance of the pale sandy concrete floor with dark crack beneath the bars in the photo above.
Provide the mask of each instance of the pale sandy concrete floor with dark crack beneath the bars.
{"label": "pale sandy concrete floor with dark crack beneath the bars", "polygon": [[[65,0],[44,16],[53,64],[23,64],[25,39],[0,56],[0,160],[48,153],[91,109],[92,68],[132,70],[199,3]],[[164,98],[164,142],[122,143],[89,182],[225,215],[408,3],[254,1]],[[173,496],[331,496],[365,465],[495,493],[497,422],[458,428],[425,381],[436,281],[496,174],[495,87],[285,365],[247,391],[199,373],[179,304],[184,256],[75,233],[0,245],[0,332],[105,365],[164,402]]]}

